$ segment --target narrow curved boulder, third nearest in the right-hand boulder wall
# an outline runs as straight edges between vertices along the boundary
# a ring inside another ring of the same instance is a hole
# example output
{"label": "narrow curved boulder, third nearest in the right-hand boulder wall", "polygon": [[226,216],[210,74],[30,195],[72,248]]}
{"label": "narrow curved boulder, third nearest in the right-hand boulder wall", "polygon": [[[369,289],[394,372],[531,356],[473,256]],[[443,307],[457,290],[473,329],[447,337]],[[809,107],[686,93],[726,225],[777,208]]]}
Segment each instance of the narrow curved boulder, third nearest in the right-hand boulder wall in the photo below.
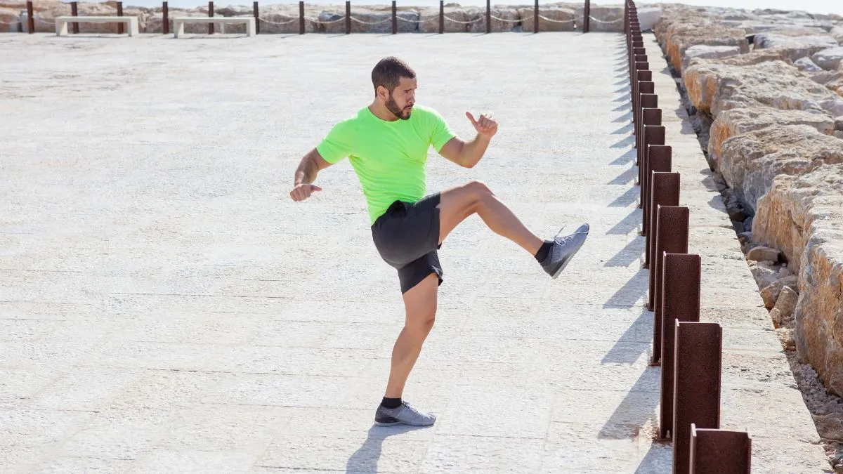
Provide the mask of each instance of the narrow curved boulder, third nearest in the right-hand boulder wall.
{"label": "narrow curved boulder, third nearest in the right-hand boulder wall", "polygon": [[766,127],[807,125],[824,135],[833,135],[835,119],[824,112],[781,110],[770,106],[738,108],[721,112],[711,124],[708,139],[709,161],[720,166],[722,144],[741,133]]}

